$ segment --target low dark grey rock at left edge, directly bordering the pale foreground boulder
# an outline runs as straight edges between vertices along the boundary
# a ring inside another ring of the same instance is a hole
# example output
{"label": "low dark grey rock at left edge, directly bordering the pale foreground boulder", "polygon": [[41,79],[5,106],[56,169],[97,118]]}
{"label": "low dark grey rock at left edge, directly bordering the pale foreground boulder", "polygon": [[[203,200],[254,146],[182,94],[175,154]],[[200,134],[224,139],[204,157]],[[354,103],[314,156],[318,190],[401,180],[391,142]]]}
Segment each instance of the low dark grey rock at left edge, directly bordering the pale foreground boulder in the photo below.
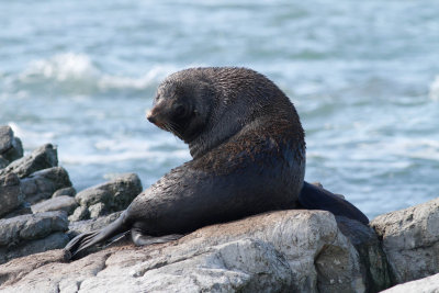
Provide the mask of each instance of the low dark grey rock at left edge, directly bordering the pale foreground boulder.
{"label": "low dark grey rock at left edge, directly bordering the pale foreground boulder", "polygon": [[69,238],[65,233],[57,232],[45,238],[27,241],[15,247],[0,247],[0,263],[52,249],[59,249],[65,247],[68,241]]}

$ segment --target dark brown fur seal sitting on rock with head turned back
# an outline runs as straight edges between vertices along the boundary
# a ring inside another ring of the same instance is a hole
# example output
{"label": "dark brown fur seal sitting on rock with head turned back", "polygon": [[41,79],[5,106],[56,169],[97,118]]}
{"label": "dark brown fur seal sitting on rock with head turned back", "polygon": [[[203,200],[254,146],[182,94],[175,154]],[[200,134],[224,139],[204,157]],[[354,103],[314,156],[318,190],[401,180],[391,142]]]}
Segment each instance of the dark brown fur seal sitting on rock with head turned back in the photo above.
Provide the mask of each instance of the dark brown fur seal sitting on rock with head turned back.
{"label": "dark brown fur seal sitting on rock with head turned back", "polygon": [[368,223],[353,205],[304,182],[305,140],[290,99],[268,78],[235,67],[190,68],[157,90],[147,119],[189,145],[172,169],[109,226],[77,236],[72,257],[121,233],[136,245],[262,212],[328,210]]}

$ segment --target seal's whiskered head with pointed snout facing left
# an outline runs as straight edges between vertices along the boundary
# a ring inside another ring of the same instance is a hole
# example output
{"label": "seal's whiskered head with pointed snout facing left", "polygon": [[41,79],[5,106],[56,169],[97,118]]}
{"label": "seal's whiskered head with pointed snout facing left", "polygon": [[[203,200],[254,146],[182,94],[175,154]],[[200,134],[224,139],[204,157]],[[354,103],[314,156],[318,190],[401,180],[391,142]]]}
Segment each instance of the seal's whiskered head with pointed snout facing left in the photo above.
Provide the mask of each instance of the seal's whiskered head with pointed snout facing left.
{"label": "seal's whiskered head with pointed snout facing left", "polygon": [[191,143],[205,127],[211,113],[210,102],[215,93],[206,80],[182,74],[169,76],[157,90],[149,122]]}

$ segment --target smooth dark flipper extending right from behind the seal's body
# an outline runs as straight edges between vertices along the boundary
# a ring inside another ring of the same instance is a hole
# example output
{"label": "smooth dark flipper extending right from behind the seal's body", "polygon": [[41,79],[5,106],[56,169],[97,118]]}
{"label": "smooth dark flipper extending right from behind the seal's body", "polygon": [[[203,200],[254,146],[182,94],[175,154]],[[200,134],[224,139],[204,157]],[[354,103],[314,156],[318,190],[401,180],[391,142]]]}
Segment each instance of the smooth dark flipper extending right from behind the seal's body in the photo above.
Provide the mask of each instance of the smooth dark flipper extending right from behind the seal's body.
{"label": "smooth dark flipper extending right from behind the seal's body", "polygon": [[346,216],[357,219],[364,225],[369,224],[369,218],[353,204],[340,196],[308,182],[303,182],[300,204],[307,210],[323,210],[335,214],[336,216]]}

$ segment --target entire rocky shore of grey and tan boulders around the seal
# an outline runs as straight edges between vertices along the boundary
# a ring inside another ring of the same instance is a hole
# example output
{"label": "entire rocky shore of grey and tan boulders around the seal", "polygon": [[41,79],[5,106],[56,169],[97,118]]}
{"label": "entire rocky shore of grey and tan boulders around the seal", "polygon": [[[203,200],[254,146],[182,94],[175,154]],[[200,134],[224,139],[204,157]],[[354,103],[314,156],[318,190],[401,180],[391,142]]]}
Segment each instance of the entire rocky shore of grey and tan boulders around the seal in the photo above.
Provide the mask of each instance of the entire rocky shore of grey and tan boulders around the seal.
{"label": "entire rocky shore of grey and tan boulders around the seal", "polygon": [[0,126],[0,292],[438,292],[439,198],[369,226],[324,211],[271,212],[69,262],[64,246],[111,223],[143,190],[134,173],[77,193],[57,148],[23,156]]}

